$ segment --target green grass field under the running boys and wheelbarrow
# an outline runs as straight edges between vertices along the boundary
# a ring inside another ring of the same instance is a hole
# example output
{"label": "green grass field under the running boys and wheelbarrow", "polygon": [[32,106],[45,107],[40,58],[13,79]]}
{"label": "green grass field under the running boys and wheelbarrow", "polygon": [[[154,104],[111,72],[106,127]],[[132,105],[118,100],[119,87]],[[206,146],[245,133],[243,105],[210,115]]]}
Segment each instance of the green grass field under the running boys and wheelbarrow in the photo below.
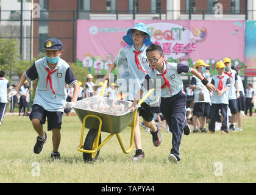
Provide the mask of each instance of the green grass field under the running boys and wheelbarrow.
{"label": "green grass field under the running boys and wheelbarrow", "polygon": [[[168,161],[172,134],[162,130],[162,144],[154,147],[151,134],[141,128],[142,161],[131,162],[135,152],[124,154],[113,137],[96,162],[85,164],[77,151],[82,127],[77,116],[63,116],[62,160],[52,161],[51,132],[41,154],[34,154],[37,133],[29,118],[5,115],[0,127],[0,182],[256,182],[255,126],[254,116],[243,118],[242,132],[183,135],[177,165]],[[107,135],[102,133],[102,140]],[[130,127],[120,135],[128,147]]]}

